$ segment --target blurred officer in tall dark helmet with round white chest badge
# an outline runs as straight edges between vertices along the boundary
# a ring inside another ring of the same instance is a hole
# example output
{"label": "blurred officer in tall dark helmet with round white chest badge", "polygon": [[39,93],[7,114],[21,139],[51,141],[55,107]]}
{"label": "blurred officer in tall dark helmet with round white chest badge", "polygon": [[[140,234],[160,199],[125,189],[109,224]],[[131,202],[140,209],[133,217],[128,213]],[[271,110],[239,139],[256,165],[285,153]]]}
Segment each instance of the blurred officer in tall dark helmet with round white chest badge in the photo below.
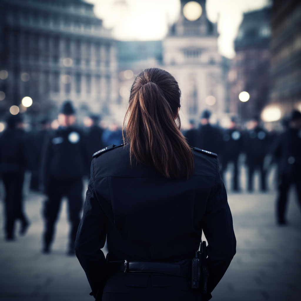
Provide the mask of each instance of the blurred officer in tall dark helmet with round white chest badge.
{"label": "blurred officer in tall dark helmet with round white chest badge", "polygon": [[86,174],[89,162],[84,135],[74,126],[76,117],[70,101],[63,104],[58,121],[60,126],[50,135],[42,161],[44,190],[48,195],[43,211],[45,216],[43,252],[50,252],[61,199],[66,196],[71,221],[68,253],[72,255],[75,253],[74,241],[82,209],[82,176]]}

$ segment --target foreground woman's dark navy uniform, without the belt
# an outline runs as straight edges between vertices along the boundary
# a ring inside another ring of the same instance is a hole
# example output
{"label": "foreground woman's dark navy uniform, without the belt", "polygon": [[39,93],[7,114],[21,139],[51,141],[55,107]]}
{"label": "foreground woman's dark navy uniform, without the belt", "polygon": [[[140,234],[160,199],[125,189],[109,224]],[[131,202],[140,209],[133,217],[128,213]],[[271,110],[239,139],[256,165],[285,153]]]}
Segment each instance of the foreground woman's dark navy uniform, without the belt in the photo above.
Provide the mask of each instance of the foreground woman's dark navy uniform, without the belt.
{"label": "foreground woman's dark navy uniform, without the belt", "polygon": [[109,262],[190,266],[202,228],[209,243],[208,293],[202,300],[210,298],[235,254],[236,240],[218,160],[201,150],[193,153],[189,180],[164,178],[135,159],[131,166],[128,145],[103,150],[92,161],[75,246],[97,300],[200,300],[189,278],[154,272],[109,272],[108,277],[100,249],[107,237]]}

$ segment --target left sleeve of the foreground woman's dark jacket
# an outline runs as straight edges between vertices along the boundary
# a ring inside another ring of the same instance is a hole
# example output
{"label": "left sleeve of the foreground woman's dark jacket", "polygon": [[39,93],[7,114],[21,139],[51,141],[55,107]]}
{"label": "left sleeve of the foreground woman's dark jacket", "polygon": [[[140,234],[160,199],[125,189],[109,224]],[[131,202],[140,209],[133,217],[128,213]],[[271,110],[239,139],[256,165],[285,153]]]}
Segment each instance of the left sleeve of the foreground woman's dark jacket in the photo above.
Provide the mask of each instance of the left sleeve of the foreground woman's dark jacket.
{"label": "left sleeve of the foreground woman's dark jacket", "polygon": [[96,298],[97,295],[102,296],[107,281],[106,259],[100,250],[106,242],[107,222],[95,195],[92,175],[91,172],[83,216],[76,234],[75,252],[91,286],[90,295]]}

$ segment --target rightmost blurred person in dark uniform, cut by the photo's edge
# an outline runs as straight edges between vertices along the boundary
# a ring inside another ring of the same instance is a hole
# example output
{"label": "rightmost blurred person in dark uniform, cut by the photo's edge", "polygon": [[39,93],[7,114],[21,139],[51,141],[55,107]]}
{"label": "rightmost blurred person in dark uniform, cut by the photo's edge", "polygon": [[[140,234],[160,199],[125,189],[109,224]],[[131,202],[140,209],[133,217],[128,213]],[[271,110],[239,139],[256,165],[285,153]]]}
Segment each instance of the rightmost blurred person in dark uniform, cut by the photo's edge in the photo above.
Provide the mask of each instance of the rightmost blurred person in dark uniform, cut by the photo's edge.
{"label": "rightmost blurred person in dark uniform, cut by the photo's edge", "polygon": [[272,154],[278,162],[277,222],[285,225],[287,194],[295,184],[301,206],[301,113],[293,111],[288,128],[276,138]]}

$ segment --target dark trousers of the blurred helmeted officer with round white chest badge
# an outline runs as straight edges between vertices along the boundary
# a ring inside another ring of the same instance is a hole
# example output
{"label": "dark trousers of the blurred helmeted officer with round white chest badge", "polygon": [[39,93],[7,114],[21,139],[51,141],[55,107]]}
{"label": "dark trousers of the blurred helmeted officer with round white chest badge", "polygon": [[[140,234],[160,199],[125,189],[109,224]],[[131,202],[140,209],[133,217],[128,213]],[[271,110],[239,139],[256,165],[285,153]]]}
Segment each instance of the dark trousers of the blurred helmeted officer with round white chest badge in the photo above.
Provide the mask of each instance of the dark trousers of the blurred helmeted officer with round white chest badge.
{"label": "dark trousers of the blurred helmeted officer with round white chest badge", "polygon": [[44,204],[45,232],[44,246],[49,247],[54,235],[54,224],[64,196],[68,198],[69,219],[71,222],[70,250],[74,250],[77,228],[79,226],[79,213],[82,210],[82,179],[73,181],[52,182],[48,189],[48,199]]}

